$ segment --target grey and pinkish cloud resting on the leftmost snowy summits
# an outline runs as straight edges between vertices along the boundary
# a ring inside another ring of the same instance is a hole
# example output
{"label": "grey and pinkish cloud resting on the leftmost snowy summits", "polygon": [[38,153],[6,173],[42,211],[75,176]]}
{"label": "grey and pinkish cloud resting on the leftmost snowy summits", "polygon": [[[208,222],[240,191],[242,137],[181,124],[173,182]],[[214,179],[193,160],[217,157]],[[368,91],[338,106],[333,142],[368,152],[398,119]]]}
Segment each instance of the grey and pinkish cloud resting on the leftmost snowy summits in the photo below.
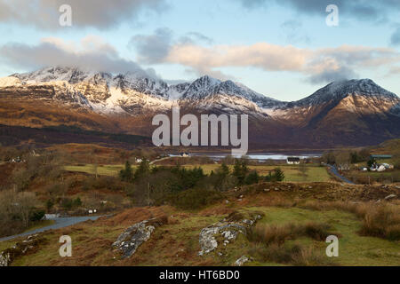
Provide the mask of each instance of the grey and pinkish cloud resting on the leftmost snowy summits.
{"label": "grey and pinkish cloud resting on the leftmost snowy summits", "polygon": [[[37,45],[6,43],[0,46],[0,61],[8,66],[30,70],[65,66],[98,72],[146,73],[135,62],[121,58],[114,47],[105,43],[99,36],[86,36],[80,43],[66,42],[56,37],[43,38]],[[148,73],[155,75],[152,72]]]}

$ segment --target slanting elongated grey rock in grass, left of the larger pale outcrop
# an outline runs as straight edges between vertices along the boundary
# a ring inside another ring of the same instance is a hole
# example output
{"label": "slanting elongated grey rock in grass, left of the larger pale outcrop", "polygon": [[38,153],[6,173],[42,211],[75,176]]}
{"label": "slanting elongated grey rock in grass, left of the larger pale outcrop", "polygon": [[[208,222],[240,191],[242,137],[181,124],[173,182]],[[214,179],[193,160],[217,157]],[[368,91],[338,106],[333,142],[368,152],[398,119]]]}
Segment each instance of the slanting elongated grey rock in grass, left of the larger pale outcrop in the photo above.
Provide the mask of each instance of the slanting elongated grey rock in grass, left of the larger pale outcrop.
{"label": "slanting elongated grey rock in grass, left of the larger pale outcrop", "polygon": [[158,217],[132,225],[118,236],[112,247],[122,252],[123,259],[129,258],[133,256],[141,244],[150,239],[156,227],[164,225],[166,222],[166,217]]}

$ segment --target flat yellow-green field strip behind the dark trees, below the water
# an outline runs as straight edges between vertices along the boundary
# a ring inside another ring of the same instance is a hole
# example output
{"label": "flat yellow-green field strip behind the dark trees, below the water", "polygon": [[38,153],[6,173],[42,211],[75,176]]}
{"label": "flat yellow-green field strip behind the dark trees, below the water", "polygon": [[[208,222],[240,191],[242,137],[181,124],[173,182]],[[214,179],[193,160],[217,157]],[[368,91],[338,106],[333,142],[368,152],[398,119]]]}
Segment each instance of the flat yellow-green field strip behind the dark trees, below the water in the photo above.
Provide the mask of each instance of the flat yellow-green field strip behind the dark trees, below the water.
{"label": "flat yellow-green field strip behind the dark trees, below the water", "polygon": [[[213,171],[217,170],[220,165],[218,164],[199,164],[199,165],[187,165],[184,166],[188,169],[193,169],[195,167],[201,167],[204,170],[205,174],[210,174]],[[135,169],[135,166],[132,166]],[[270,170],[274,170],[276,166],[249,166],[251,170],[257,170],[257,172],[262,175],[268,175]],[[287,182],[326,182],[330,181],[331,177],[328,171],[324,167],[318,166],[307,166],[306,175],[303,176],[300,173],[298,166],[289,166],[283,165],[280,167],[284,171],[284,181]],[[82,165],[82,166],[66,166],[64,170],[73,171],[73,172],[84,172],[88,174],[95,174],[97,170],[97,174],[100,176],[108,176],[108,177],[116,177],[120,170],[124,169],[124,165],[101,165],[97,168],[92,164]],[[231,167],[231,170],[233,167]]]}

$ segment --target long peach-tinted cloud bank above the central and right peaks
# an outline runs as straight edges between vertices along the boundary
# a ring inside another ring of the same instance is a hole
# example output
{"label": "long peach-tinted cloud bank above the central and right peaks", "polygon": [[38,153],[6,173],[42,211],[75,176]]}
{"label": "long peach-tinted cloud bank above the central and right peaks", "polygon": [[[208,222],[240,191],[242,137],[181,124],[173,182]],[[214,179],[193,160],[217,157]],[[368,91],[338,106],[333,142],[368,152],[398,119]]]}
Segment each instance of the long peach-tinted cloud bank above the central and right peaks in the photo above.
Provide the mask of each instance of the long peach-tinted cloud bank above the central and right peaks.
{"label": "long peach-tinted cloud bank above the central and right peaks", "polygon": [[174,40],[172,32],[164,29],[150,36],[135,36],[132,44],[140,63],[179,64],[187,72],[221,80],[232,78],[222,73],[224,67],[256,67],[306,75],[310,83],[332,82],[356,78],[356,70],[376,70],[400,62],[399,52],[391,48],[341,45],[308,49],[271,43],[202,45],[181,38]]}

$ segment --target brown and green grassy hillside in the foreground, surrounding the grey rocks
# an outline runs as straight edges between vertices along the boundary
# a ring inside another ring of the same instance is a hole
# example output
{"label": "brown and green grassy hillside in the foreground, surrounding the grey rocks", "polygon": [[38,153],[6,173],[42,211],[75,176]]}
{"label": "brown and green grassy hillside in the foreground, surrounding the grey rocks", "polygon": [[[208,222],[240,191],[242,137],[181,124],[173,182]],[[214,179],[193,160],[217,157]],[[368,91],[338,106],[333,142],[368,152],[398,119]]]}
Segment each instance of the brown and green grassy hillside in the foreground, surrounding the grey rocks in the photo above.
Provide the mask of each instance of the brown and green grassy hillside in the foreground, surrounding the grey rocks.
{"label": "brown and green grassy hillside in the foreground, surrounding the grey rocks", "polygon": [[[244,265],[398,266],[398,236],[390,241],[363,233],[365,219],[361,217],[372,214],[363,210],[374,209],[378,206],[376,201],[383,200],[390,193],[399,196],[398,187],[366,188],[337,183],[252,185],[225,193],[226,200],[201,210],[185,211],[170,206],[127,209],[97,221],[41,233],[37,248],[17,257],[12,265],[225,266],[234,265],[241,256],[249,256],[252,262]],[[388,206],[395,209],[392,213],[398,213],[400,205],[395,199],[382,201],[381,206]],[[259,214],[262,218],[247,234],[239,233],[236,240],[226,246],[222,244],[221,237],[217,237],[218,247],[199,256],[202,229],[228,216],[246,217],[252,214]],[[152,217],[164,217],[167,221],[156,227],[149,240],[132,257],[121,259],[120,253],[112,248],[118,235],[129,226]],[[302,226],[314,228],[317,233],[307,230],[299,233],[296,228]],[[272,238],[268,235],[271,232]],[[325,255],[328,244],[324,238],[318,237],[324,233],[339,237],[339,257]],[[72,257],[60,257],[61,235],[72,238]],[[0,242],[0,251],[21,240]]]}

